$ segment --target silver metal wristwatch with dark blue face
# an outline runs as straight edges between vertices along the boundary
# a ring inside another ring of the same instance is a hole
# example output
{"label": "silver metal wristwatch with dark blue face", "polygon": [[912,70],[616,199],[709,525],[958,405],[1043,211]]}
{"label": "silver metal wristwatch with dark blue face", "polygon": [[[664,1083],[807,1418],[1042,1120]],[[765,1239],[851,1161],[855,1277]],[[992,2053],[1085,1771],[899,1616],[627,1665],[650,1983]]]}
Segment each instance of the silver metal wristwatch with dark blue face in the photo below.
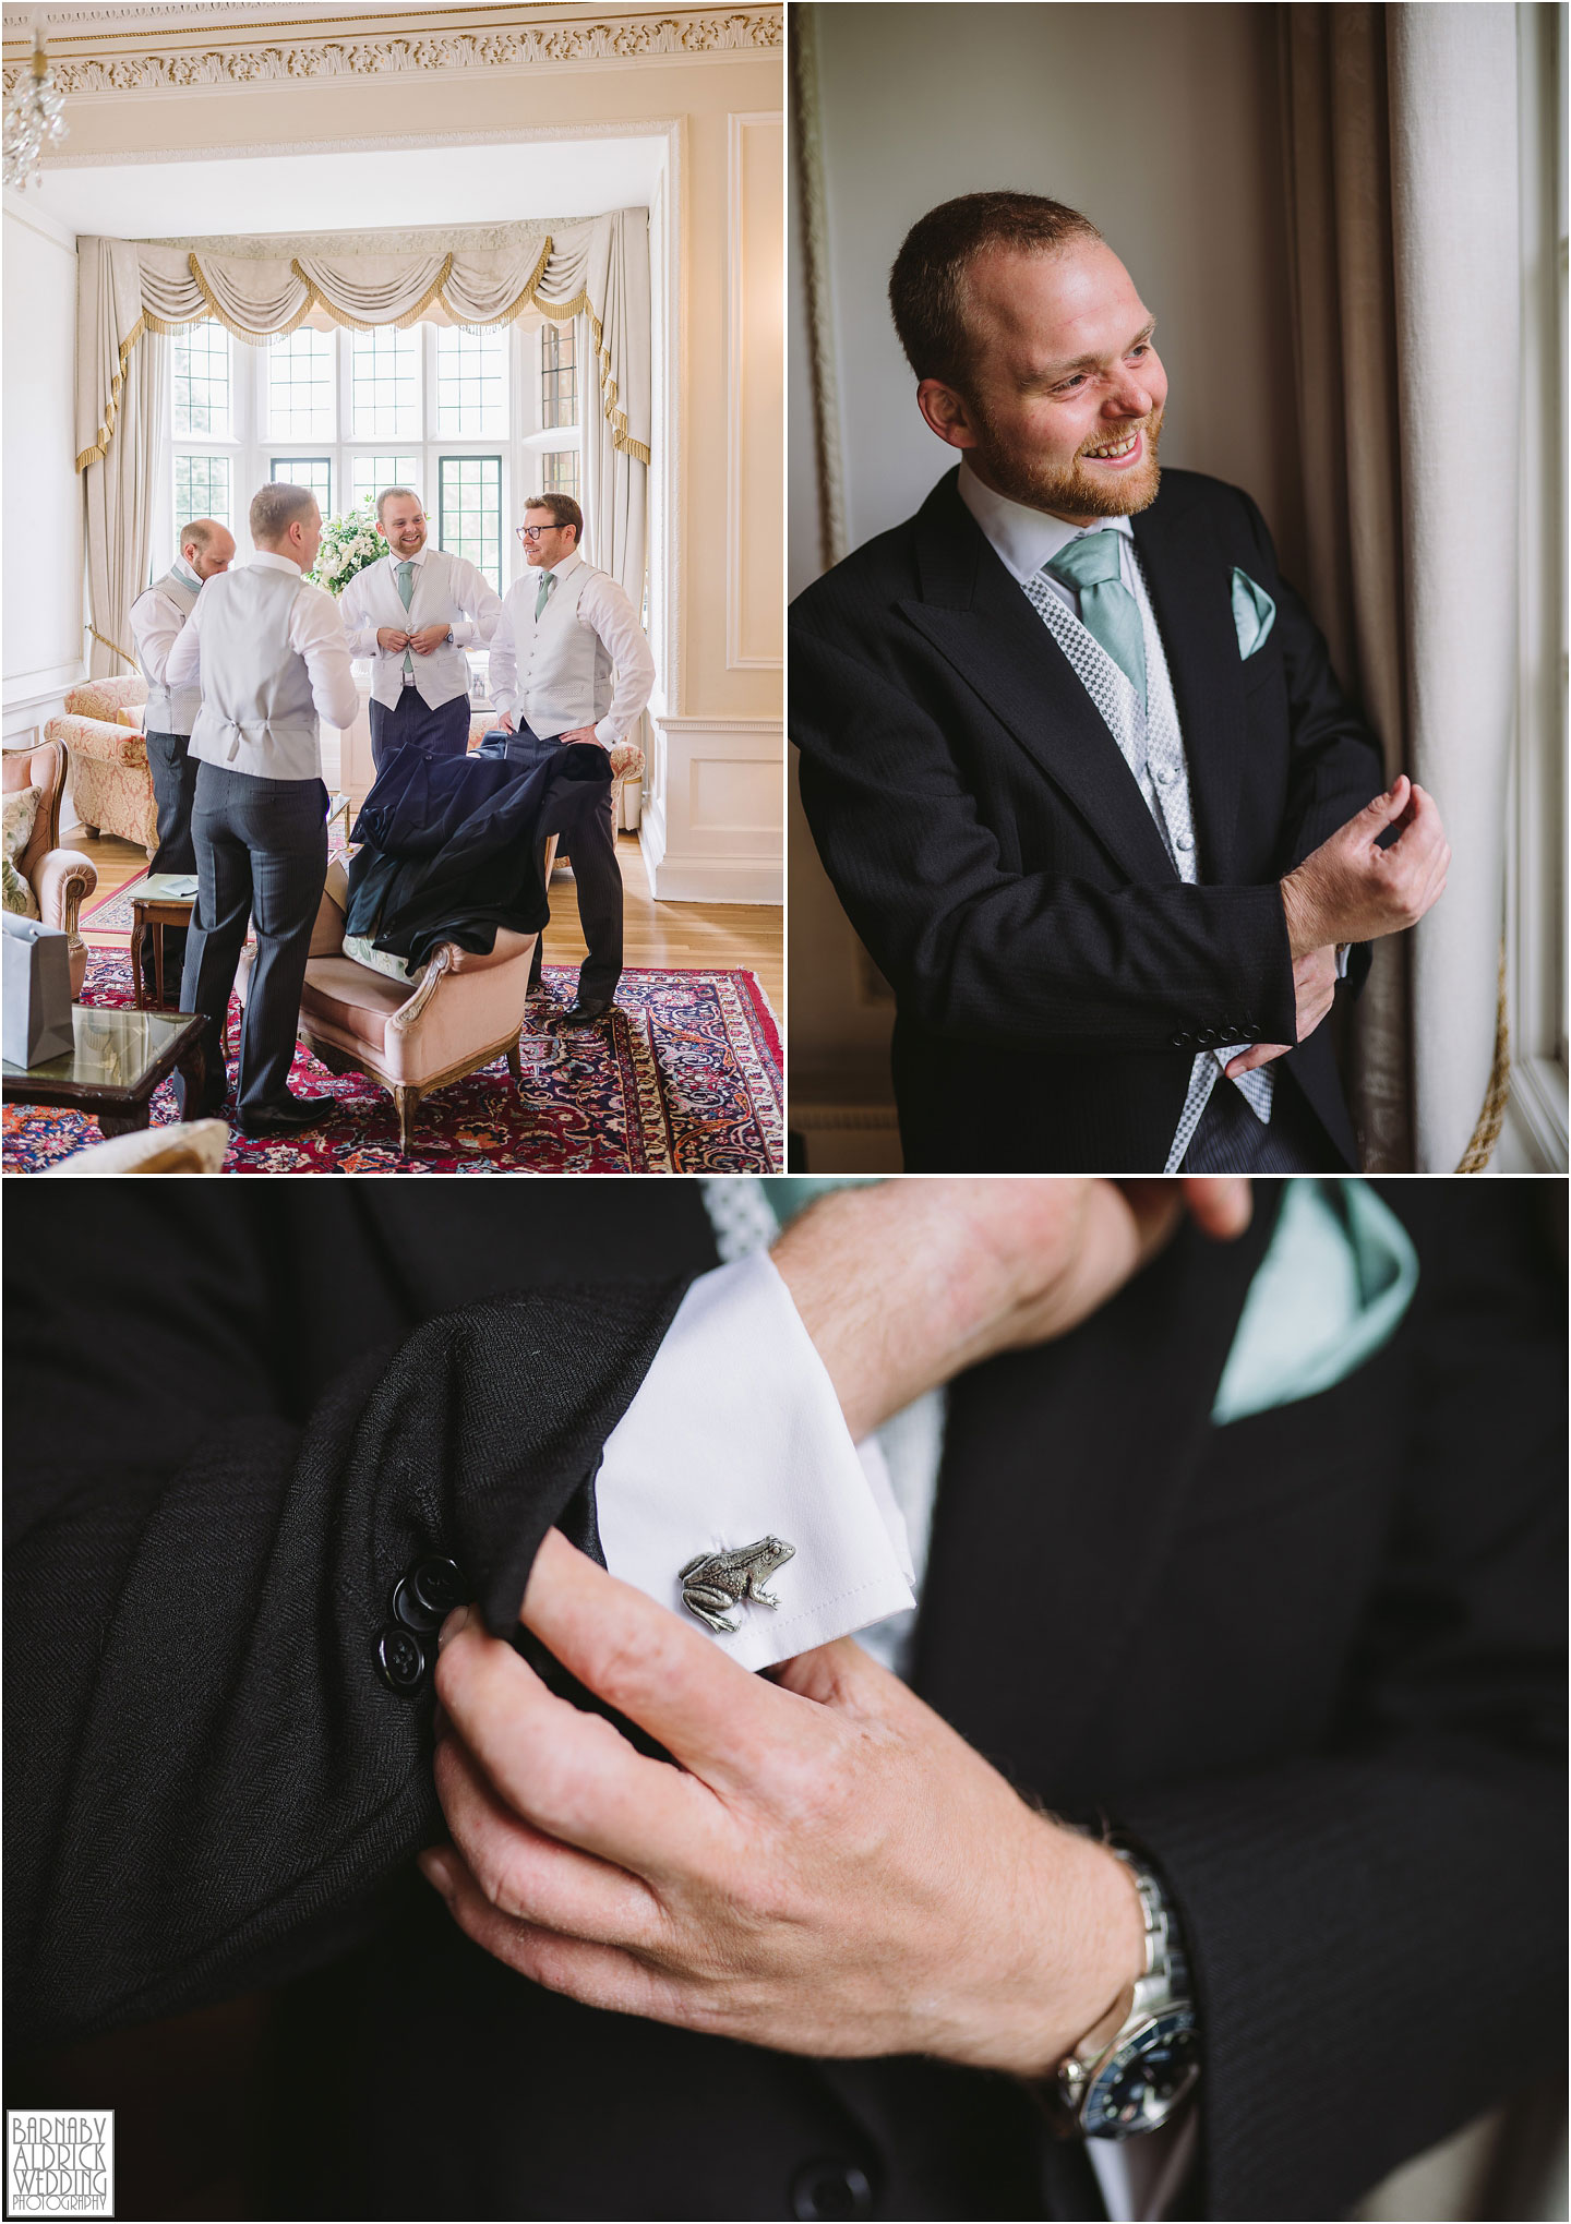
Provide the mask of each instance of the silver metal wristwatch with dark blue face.
{"label": "silver metal wristwatch with dark blue face", "polygon": [[1162,1884],[1128,1846],[1108,1846],[1130,1873],[1146,1917],[1146,1968],[1128,2010],[1081,2039],[1055,2077],[1059,2108],[1084,2139],[1135,2139],[1166,2124],[1199,2077],[1199,2028],[1188,1959]]}

